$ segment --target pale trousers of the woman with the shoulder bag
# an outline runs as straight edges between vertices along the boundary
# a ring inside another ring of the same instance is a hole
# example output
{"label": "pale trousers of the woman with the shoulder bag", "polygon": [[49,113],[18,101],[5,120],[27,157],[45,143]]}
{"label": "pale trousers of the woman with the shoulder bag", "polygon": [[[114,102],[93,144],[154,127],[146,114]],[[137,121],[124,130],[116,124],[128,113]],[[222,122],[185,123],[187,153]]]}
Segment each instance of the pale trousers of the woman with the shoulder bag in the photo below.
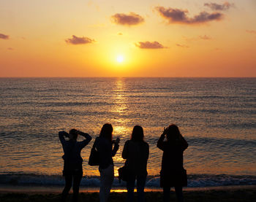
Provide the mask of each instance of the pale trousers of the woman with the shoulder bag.
{"label": "pale trousers of the woman with the shoulder bag", "polygon": [[99,168],[100,174],[100,188],[99,188],[99,201],[107,202],[110,193],[113,179],[114,179],[114,166],[110,164],[108,168]]}

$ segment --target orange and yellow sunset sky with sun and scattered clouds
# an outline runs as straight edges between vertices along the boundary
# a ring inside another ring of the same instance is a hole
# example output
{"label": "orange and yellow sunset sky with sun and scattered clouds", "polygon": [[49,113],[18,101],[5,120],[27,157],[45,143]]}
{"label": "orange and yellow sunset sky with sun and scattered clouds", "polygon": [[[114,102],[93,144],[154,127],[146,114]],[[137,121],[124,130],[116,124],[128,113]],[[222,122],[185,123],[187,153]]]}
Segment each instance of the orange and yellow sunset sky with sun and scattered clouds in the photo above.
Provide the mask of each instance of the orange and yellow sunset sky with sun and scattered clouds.
{"label": "orange and yellow sunset sky with sun and scattered clouds", "polygon": [[1,0],[0,77],[256,77],[256,1]]}

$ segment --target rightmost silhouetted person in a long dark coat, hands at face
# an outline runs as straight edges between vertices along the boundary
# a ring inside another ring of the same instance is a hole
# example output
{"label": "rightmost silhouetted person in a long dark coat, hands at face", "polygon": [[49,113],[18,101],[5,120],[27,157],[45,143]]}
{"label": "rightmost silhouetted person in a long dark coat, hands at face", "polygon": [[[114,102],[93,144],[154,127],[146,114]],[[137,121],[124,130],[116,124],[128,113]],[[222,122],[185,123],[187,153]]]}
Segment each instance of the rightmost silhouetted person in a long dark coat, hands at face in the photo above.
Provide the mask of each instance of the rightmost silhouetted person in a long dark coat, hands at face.
{"label": "rightmost silhouetted person in a long dark coat, hands at face", "polygon": [[[165,136],[167,141],[164,141]],[[160,172],[160,186],[163,187],[164,201],[170,201],[170,187],[175,187],[176,197],[178,202],[183,202],[182,187],[184,185],[184,167],[183,167],[183,152],[189,145],[181,136],[177,125],[170,125],[164,130],[159,140],[157,147],[162,149],[162,169]]]}

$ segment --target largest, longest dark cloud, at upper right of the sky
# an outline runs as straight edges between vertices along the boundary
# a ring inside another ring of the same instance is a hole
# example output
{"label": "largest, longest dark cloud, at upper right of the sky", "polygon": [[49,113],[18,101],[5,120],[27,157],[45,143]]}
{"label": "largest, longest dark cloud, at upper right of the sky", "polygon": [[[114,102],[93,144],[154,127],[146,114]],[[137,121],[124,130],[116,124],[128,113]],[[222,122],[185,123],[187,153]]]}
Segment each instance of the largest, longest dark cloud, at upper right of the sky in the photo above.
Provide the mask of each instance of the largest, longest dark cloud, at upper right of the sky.
{"label": "largest, longest dark cloud, at upper right of the sky", "polygon": [[208,23],[213,20],[222,20],[223,14],[220,12],[200,12],[198,15],[195,15],[193,18],[187,16],[188,11],[182,9],[172,9],[165,7],[156,7],[155,8],[162,18],[165,18],[169,23],[180,23],[180,24],[200,24]]}

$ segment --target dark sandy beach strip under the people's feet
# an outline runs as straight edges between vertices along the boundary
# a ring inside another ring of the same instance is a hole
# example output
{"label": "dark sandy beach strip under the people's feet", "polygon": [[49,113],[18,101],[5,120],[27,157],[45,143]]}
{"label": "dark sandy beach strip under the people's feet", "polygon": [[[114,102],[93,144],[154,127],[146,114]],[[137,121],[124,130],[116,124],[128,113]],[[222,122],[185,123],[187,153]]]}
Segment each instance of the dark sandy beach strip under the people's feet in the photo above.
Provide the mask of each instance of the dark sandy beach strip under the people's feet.
{"label": "dark sandy beach strip under the people's feet", "polygon": [[[0,187],[0,201],[59,201],[61,190],[59,187],[42,188],[38,187]],[[127,193],[124,190],[113,190],[110,193],[109,202],[125,201]],[[176,201],[175,193],[171,191],[171,201]],[[69,201],[72,195],[69,195]],[[185,201],[237,201],[237,202],[252,202],[256,200],[256,186],[230,186],[230,187],[202,187],[202,188],[187,188],[184,190]],[[99,192],[96,189],[83,190],[80,192],[79,201],[99,201]],[[162,192],[159,190],[146,190],[146,201],[162,201]]]}

